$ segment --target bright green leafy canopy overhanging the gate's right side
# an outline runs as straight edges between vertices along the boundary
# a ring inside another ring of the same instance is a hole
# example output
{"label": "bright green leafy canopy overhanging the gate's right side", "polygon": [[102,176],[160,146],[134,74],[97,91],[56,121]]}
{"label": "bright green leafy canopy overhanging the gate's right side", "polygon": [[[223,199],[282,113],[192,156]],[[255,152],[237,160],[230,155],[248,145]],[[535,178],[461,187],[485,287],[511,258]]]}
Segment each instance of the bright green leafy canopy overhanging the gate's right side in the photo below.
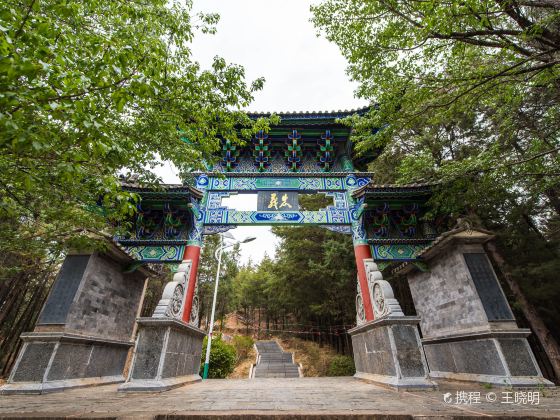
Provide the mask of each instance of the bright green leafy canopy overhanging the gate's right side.
{"label": "bright green leafy canopy overhanging the gate's right side", "polygon": [[376,103],[353,121],[360,148],[403,157],[392,180],[499,180],[560,213],[556,2],[329,0],[313,11]]}

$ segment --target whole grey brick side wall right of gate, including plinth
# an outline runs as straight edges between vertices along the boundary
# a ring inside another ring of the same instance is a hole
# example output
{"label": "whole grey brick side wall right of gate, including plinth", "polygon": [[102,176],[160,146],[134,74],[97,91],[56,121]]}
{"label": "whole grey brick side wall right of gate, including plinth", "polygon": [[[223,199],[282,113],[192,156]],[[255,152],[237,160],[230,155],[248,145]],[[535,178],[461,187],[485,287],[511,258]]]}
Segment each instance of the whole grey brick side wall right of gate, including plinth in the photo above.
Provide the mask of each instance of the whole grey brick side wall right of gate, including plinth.
{"label": "whole grey brick side wall right of gate, including plinth", "polygon": [[515,323],[483,243],[486,232],[447,235],[423,258],[428,271],[407,277],[420,316],[422,345],[434,378],[500,386],[552,385],[542,377]]}

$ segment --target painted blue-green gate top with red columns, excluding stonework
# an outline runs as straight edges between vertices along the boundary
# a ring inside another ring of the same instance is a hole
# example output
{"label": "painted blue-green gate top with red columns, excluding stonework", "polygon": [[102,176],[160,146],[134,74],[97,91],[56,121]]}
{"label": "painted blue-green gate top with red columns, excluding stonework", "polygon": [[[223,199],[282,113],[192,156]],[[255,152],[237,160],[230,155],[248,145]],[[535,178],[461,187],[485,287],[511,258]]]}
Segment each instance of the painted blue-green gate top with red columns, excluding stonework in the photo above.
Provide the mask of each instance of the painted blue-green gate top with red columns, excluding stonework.
{"label": "painted blue-green gate top with red columns, excluding stonework", "polygon": [[[134,232],[118,241],[140,261],[192,262],[183,305],[183,320],[188,321],[204,235],[238,225],[318,225],[352,235],[358,271],[357,321],[373,320],[371,275],[364,261],[374,258],[377,269],[394,261],[414,261],[435,231],[421,221],[429,186],[375,185],[371,173],[358,169],[375,155],[358,158],[351,129],[337,120],[366,111],[280,114],[279,125],[257,133],[245,146],[223,140],[219,162],[193,174],[190,187],[167,185],[156,192],[125,184],[142,200]],[[246,193],[259,195],[258,209],[240,211],[222,204],[226,197]],[[302,193],[324,194],[332,205],[300,210]]]}

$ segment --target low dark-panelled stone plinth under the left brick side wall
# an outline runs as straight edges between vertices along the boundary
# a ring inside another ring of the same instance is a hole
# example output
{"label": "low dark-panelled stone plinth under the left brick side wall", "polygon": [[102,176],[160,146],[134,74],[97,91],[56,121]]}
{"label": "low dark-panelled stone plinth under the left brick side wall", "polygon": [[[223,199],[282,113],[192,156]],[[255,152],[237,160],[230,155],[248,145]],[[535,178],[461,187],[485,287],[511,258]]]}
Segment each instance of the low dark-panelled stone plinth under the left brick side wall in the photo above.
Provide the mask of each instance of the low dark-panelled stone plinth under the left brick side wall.
{"label": "low dark-panelled stone plinth under the left brick side wall", "polygon": [[23,347],[2,394],[43,394],[69,388],[124,382],[132,342],[69,333],[21,335]]}

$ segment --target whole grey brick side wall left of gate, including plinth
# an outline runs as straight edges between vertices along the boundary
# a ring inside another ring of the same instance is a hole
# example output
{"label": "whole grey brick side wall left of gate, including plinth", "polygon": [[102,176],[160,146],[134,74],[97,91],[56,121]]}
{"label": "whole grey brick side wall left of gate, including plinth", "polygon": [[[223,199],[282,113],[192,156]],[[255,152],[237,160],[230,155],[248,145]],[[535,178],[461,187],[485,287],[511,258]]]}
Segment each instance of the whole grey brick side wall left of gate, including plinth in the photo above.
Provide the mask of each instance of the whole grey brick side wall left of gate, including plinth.
{"label": "whole grey brick side wall left of gate, including plinth", "polygon": [[68,255],[2,393],[44,393],[123,382],[145,279],[115,245]]}

